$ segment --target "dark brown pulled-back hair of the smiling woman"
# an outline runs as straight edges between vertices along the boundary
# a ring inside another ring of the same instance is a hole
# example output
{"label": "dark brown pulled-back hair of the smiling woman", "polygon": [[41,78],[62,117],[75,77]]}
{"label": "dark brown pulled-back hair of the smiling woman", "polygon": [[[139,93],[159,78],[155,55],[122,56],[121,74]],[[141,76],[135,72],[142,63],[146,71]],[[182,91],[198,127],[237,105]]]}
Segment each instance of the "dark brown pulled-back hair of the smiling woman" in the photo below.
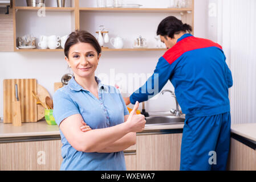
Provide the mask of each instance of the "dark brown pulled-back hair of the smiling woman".
{"label": "dark brown pulled-back hair of the smiling woman", "polygon": [[75,44],[82,42],[91,44],[97,51],[97,55],[101,52],[100,44],[97,42],[97,39],[87,31],[84,30],[76,30],[72,32],[65,43],[64,47],[64,54],[68,57],[68,53],[70,52],[70,47],[74,46]]}

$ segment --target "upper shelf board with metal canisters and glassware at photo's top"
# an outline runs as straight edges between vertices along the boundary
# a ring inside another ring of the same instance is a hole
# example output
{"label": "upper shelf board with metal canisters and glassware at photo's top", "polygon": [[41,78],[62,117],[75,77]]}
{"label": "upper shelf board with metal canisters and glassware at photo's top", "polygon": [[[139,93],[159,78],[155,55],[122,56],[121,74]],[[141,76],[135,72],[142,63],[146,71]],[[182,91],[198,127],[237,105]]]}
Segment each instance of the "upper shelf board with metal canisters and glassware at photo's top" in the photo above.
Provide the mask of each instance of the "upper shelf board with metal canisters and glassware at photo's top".
{"label": "upper shelf board with metal canisters and glassware at photo's top", "polygon": [[[23,0],[25,1],[25,0]],[[26,3],[19,3],[15,10],[39,10],[47,11],[74,11],[75,7],[66,7],[65,0],[56,0],[56,5],[45,3],[44,0],[26,0]],[[27,5],[27,6],[26,6]],[[163,8],[148,8],[136,3],[129,3],[123,0],[97,0],[96,7],[83,7],[80,5],[80,11],[138,11],[138,12],[185,12],[192,11],[193,0],[169,0],[169,5]]]}

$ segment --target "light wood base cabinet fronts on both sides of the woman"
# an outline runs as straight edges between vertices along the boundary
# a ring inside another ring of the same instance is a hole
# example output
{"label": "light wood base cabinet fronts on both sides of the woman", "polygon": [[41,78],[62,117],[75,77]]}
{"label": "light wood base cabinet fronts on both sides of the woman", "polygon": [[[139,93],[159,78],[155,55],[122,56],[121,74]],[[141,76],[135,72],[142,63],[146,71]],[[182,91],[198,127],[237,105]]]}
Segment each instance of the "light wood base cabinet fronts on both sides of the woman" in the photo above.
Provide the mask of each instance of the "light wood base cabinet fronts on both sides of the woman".
{"label": "light wood base cabinet fronts on both sides of the woman", "polygon": [[[127,171],[179,170],[182,133],[137,135],[137,143],[124,151]],[[0,143],[2,170],[59,170],[60,139]]]}

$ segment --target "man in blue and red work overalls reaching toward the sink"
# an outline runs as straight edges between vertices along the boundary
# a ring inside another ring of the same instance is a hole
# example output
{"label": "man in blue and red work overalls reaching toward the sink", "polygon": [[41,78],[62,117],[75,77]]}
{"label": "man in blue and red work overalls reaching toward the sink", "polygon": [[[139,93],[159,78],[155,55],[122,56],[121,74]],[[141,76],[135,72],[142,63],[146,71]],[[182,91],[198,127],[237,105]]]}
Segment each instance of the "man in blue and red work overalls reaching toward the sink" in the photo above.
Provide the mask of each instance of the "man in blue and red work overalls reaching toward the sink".
{"label": "man in blue and red work overalls reaching toward the sink", "polygon": [[225,170],[230,143],[228,89],[233,80],[222,47],[186,34],[191,31],[191,26],[174,16],[162,20],[157,35],[168,51],[151,78],[124,100],[127,105],[147,101],[158,93],[152,89],[160,92],[170,80],[186,114],[180,169]]}

